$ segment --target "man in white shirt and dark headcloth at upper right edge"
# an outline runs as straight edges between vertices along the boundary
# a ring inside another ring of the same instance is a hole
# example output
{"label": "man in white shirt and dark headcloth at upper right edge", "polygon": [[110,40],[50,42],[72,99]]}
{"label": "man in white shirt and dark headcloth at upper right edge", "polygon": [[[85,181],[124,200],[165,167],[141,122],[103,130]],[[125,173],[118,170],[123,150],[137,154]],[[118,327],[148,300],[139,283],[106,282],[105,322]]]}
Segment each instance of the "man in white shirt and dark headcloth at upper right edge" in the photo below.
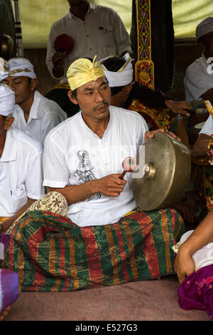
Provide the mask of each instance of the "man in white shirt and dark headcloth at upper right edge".
{"label": "man in white shirt and dark headcloth at upper right edge", "polygon": [[191,103],[194,100],[210,100],[213,103],[213,17],[200,22],[196,28],[196,38],[202,50],[202,57],[188,66],[185,73],[185,98]]}

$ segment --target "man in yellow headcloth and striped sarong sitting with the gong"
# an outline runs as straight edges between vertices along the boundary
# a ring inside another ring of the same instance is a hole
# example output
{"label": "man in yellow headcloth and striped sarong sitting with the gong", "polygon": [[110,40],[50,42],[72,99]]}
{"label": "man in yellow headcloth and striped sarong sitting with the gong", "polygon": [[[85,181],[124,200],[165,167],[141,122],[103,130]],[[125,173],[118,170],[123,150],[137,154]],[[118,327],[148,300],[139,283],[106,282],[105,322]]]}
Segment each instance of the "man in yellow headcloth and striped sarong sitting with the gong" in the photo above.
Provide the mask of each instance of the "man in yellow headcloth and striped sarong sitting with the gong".
{"label": "man in yellow headcloth and striped sarong sitting with the gong", "polygon": [[171,209],[136,209],[131,175],[121,177],[123,160],[136,158],[144,140],[163,130],[149,132],[141,115],[110,105],[100,63],[81,58],[71,64],[67,78],[69,97],[81,112],[50,130],[43,155],[45,197],[60,195],[53,205],[65,199],[67,214],[45,212],[44,204],[43,210],[24,215],[5,267],[20,272],[23,291],[43,292],[174,273],[170,246],[184,232],[182,218]]}

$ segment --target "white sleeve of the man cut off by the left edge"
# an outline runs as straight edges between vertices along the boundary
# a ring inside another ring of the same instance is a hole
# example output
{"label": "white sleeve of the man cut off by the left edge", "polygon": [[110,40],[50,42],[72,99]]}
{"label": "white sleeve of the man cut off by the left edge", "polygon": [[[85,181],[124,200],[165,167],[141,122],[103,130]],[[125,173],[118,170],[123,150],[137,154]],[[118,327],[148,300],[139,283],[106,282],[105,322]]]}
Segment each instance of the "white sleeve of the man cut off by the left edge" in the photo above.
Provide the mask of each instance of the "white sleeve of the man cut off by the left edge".
{"label": "white sleeve of the man cut off by the left edge", "polygon": [[39,199],[45,194],[43,187],[43,153],[35,153],[28,163],[26,175],[26,192],[31,199]]}

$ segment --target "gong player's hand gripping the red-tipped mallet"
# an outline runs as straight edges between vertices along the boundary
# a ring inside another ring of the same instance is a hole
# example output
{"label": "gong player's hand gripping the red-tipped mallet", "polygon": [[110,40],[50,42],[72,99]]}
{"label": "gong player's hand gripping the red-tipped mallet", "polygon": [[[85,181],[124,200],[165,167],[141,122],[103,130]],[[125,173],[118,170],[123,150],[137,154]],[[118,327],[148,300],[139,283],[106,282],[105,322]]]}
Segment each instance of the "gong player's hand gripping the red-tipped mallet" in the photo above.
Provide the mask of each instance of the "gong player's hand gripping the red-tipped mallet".
{"label": "gong player's hand gripping the red-tipped mallet", "polygon": [[126,180],[121,179],[121,174],[112,174],[95,180],[97,190],[107,197],[119,197],[126,185]]}

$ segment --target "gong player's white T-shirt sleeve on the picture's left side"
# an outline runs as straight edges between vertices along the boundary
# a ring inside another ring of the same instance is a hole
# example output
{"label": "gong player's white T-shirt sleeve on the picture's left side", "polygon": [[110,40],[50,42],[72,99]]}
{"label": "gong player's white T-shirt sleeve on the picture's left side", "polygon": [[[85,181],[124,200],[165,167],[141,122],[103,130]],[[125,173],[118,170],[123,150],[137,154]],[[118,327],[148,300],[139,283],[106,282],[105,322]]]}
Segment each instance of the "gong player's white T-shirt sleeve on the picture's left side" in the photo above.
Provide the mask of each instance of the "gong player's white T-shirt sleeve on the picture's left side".
{"label": "gong player's white T-shirt sleeve on the picture's left side", "polygon": [[60,138],[47,136],[44,142],[43,172],[44,186],[65,187],[69,181],[69,171]]}

